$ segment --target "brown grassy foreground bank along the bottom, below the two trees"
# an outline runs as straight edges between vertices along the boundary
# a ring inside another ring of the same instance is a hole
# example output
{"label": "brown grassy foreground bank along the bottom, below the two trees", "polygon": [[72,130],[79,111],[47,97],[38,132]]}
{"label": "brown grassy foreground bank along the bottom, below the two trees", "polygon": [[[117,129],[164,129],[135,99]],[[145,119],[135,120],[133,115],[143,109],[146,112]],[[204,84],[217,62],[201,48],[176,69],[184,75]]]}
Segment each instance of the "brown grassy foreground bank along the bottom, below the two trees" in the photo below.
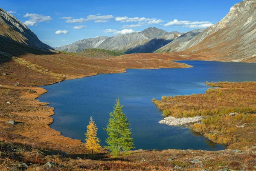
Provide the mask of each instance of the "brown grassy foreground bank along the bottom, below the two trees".
{"label": "brown grassy foreground bank along the bottom, below the two trees", "polygon": [[[47,151],[0,142],[2,156],[0,169],[7,171],[25,162],[28,171],[49,170],[44,167],[46,162],[55,162],[64,167],[56,166],[50,170],[80,171],[80,170],[131,170],[131,171],[169,171],[179,166],[184,170],[199,171],[206,168],[210,171],[229,168],[240,170],[255,170],[256,149],[248,151],[197,151],[197,150],[163,150],[163,151],[131,151],[129,155],[109,158],[108,154],[75,154],[67,155],[58,151]],[[12,149],[17,149],[14,152]],[[76,159],[80,157],[81,159]],[[174,161],[168,161],[171,158]],[[199,159],[201,163],[193,164],[191,161]],[[210,169],[209,169],[210,168]]]}

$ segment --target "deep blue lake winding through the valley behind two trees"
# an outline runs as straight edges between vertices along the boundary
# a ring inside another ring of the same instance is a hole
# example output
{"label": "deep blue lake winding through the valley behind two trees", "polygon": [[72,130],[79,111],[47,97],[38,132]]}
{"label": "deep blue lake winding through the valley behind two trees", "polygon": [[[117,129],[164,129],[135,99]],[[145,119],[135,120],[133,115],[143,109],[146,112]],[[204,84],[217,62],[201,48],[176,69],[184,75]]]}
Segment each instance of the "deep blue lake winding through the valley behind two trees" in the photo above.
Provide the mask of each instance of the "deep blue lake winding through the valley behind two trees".
{"label": "deep blue lake winding through the valley behind two trees", "polygon": [[128,69],[122,74],[98,74],[76,80],[43,86],[48,93],[39,97],[55,108],[54,123],[50,126],[66,137],[84,142],[84,133],[93,116],[98,137],[105,145],[102,129],[108,123],[116,98],[131,123],[136,149],[202,149],[222,150],[203,135],[183,126],[159,124],[162,111],[152,98],[169,95],[204,93],[204,83],[256,81],[256,63],[224,63],[209,61],[179,61],[194,68]]}

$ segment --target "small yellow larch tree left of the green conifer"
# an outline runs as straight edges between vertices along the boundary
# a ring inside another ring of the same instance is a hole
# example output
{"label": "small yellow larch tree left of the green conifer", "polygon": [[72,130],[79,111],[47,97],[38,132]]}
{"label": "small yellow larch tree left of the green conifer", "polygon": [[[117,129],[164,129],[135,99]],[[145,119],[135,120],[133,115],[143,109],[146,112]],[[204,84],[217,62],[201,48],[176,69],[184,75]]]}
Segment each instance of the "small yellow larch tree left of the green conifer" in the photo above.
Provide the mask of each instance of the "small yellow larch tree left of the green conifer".
{"label": "small yellow larch tree left of the green conifer", "polygon": [[101,148],[101,146],[99,145],[100,140],[97,137],[97,130],[98,128],[94,123],[93,117],[91,116],[89,125],[87,126],[87,131],[85,133],[85,137],[86,137],[85,146],[89,150],[92,150],[92,154],[93,152],[99,152]]}

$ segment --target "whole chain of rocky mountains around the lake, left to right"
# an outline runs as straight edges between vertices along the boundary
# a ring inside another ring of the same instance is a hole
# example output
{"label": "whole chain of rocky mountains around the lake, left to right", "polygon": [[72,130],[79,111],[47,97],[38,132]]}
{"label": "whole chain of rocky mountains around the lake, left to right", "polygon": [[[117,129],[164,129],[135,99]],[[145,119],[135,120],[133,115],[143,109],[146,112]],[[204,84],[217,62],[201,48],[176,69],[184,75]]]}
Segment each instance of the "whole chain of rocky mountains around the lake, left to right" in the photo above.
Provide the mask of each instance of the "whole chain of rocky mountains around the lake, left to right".
{"label": "whole chain of rocky mountains around the lake, left to right", "polygon": [[[184,53],[197,54],[198,57],[207,60],[255,62],[255,16],[256,0],[243,0],[232,6],[229,13],[221,21],[206,29],[180,33],[150,27],[131,34],[79,40],[55,49],[81,52],[87,48],[101,48],[127,54],[183,51]],[[6,42],[1,43],[0,54],[6,51],[13,54],[19,52],[18,47],[21,45],[17,43],[22,43],[22,47],[29,46],[28,49],[53,50],[50,46],[42,43],[27,26],[3,9],[0,9],[0,40]],[[17,43],[8,44],[12,41]],[[15,51],[12,50],[12,47],[15,47]]]}

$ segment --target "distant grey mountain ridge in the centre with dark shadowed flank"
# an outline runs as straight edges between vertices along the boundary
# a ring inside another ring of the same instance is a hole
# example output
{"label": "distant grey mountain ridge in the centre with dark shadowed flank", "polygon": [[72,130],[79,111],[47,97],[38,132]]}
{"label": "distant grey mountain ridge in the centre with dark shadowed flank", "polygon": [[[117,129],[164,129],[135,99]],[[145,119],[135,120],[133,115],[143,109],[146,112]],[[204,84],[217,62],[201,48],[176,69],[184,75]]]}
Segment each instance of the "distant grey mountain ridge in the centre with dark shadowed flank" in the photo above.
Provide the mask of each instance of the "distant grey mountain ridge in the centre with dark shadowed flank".
{"label": "distant grey mountain ridge in the centre with dark shadowed flank", "polygon": [[167,31],[150,27],[141,32],[79,40],[71,45],[56,48],[56,50],[81,52],[86,48],[102,48],[124,53],[154,52],[179,36],[180,33],[178,31],[168,33]]}

